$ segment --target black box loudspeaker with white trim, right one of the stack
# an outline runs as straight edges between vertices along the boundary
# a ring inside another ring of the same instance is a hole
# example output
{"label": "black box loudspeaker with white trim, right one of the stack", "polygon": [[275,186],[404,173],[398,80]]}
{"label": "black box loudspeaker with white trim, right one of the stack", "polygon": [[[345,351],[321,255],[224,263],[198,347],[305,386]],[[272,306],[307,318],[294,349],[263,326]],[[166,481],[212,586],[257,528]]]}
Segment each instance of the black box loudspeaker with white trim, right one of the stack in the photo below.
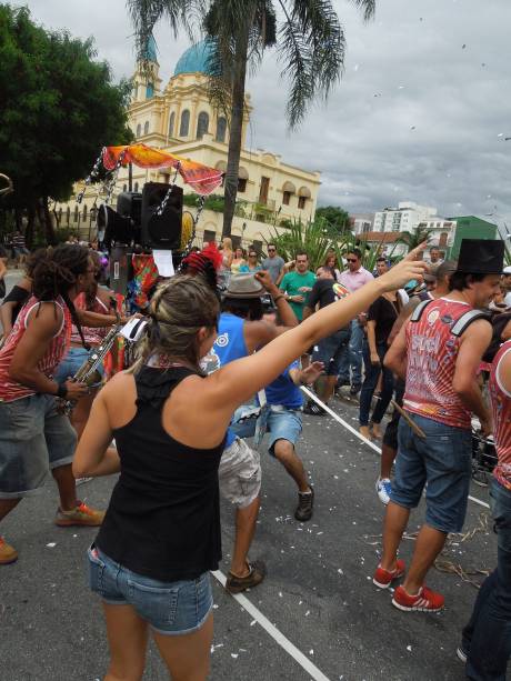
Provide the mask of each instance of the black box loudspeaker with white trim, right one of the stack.
{"label": "black box loudspeaker with white trim, right one of the stack", "polygon": [[163,201],[169,184],[146,182],[142,190],[142,246],[159,250],[181,250],[181,221],[183,190],[172,187],[167,206],[161,216],[158,209]]}

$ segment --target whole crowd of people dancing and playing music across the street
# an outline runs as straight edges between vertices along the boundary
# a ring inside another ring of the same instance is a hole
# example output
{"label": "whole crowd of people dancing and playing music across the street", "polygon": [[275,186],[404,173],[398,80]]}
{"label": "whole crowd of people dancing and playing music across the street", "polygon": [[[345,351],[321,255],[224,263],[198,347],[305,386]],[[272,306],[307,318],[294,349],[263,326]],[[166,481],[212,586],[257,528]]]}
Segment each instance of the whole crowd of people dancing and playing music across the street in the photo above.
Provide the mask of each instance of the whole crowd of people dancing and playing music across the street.
{"label": "whole crowd of people dancing and playing music across the street", "polygon": [[[458,655],[469,679],[504,680],[511,271],[503,269],[503,242],[464,240],[457,262],[442,261],[438,249],[423,260],[423,247],[397,264],[382,256],[373,272],[357,248],[344,254],[345,268],[331,252],[313,272],[305,251],[284,262],[268,244],[259,262],[253,248],[233,249],[229,239],[222,246],[193,249],[160,283],[137,361],[96,383],[73,377],[112,324],[127,321],[99,283],[101,256],[67,243],[27,258],[24,278],[0,308],[0,524],[51,472],[60,497],[54,522],[99,528],[88,558],[108,629],[106,679],[142,678],[149,632],[173,679],[206,679],[220,494],[236,517],[226,589],[246,591],[267,574],[249,557],[265,433],[270,457],[295,484],[294,518],[307,522],[320,490],[299,454],[302,413],[323,415],[321,403],[344,387],[351,398],[360,393],[360,432],[382,440],[383,552],[373,583],[388,589],[402,579],[393,605],[435,612],[444,599],[425,578],[448,534],[463,527],[477,417],[482,433],[493,433],[498,455],[491,483],[498,565],[478,593]],[[492,328],[488,312],[505,323]],[[481,371],[489,373],[490,403]],[[304,403],[301,385],[313,387],[319,403]],[[63,402],[72,404],[70,415]],[[119,477],[106,512],[77,498],[78,479],[112,474]],[[399,545],[424,490],[425,520],[407,570]],[[17,559],[0,538],[0,564]]]}

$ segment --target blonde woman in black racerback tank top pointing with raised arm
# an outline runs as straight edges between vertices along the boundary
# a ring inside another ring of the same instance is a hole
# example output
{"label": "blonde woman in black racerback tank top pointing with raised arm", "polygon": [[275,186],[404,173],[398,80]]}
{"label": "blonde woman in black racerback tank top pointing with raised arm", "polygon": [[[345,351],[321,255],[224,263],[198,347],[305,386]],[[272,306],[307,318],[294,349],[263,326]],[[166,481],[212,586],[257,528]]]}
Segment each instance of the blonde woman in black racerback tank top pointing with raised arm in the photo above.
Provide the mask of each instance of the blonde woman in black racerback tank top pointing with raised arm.
{"label": "blonde woman in black racerback tank top pointing with raised arm", "polygon": [[[218,467],[232,413],[382,292],[420,278],[415,256],[208,377],[199,361],[217,338],[216,293],[191,276],[157,291],[141,360],[97,397],[73,463],[76,477],[120,472],[89,550],[111,647],[107,679],[142,677],[149,628],[174,681],[207,678],[209,571],[221,558]],[[255,278],[278,307],[288,304],[267,272]]]}

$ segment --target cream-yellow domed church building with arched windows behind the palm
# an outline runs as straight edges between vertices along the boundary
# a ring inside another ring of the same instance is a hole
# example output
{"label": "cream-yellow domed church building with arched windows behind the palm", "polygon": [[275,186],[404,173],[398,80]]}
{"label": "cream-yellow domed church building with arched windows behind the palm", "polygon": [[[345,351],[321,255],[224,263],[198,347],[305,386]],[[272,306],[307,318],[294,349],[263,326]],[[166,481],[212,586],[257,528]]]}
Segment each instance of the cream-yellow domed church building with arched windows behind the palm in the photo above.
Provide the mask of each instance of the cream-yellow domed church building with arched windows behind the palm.
{"label": "cream-yellow domed church building with arched windows behind the palm", "polygon": [[[150,44],[147,53],[149,74],[139,64],[133,76],[129,124],[137,142],[226,170],[229,124],[226,116],[216,110],[208,98],[209,53],[207,41],[189,48],[162,88],[156,49]],[[244,243],[269,239],[271,228],[275,227],[280,231],[282,221],[301,219],[307,222],[313,219],[320,187],[319,172],[284,163],[273,152],[247,149],[251,112],[250,94],[247,94],[238,209],[232,226],[232,234],[242,238]],[[151,171],[133,167],[132,190],[141,191],[147,181],[169,182],[172,177],[172,169]],[[128,190],[128,172],[124,169],[119,173],[117,190]],[[184,192],[190,193],[190,188],[184,187]],[[223,188],[220,187],[216,194],[223,194]],[[79,220],[88,216],[87,211],[90,211],[94,198],[96,191],[88,190],[78,212]],[[72,207],[72,217],[77,214],[73,211]],[[199,237],[206,232],[208,240],[219,240],[222,220],[221,212],[204,211],[198,224]]]}

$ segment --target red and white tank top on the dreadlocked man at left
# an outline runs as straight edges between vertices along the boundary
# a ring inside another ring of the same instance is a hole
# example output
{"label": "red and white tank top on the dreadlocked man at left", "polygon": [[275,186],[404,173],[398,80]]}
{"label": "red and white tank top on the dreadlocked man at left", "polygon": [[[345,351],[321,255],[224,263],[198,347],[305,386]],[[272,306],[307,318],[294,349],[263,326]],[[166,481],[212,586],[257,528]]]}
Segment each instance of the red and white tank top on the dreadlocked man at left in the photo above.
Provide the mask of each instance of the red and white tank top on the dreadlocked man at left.
{"label": "red and white tank top on the dreadlocked man at left", "polygon": [[[14,400],[21,400],[31,394],[36,394],[36,390],[28,385],[17,383],[9,377],[9,367],[12,361],[14,351],[27,330],[27,319],[29,314],[37,314],[37,308],[40,306],[39,301],[32,296],[23,306],[18,319],[16,320],[12,331],[10,332],[6,344],[0,350],[0,401],[13,402]],[[52,338],[51,343],[48,347],[44,355],[39,360],[38,369],[47,377],[51,377],[60,360],[67,352],[71,340],[71,314],[59,296],[54,301],[57,309],[62,311],[62,323],[59,331]]]}

